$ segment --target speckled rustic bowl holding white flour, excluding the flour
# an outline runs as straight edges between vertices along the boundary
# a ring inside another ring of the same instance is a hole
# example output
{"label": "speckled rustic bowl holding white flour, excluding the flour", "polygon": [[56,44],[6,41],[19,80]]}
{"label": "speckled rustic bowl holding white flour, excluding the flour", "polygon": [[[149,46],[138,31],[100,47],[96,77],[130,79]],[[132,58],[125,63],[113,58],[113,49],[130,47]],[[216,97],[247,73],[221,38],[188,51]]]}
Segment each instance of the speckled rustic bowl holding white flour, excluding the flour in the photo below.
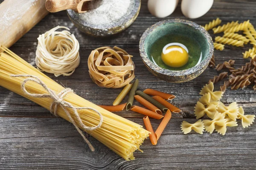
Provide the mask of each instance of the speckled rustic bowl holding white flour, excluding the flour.
{"label": "speckled rustic bowl holding white flour, excluding the flour", "polygon": [[[75,11],[68,9],[67,15],[74,25],[79,28],[80,31],[89,34],[93,37],[108,37],[113,34],[117,34],[121,31],[124,31],[126,28],[131,26],[132,23],[136,20],[139,11],[140,11],[140,0],[131,0],[130,6],[127,13],[115,23],[112,23],[111,26],[104,25],[92,25],[85,22],[84,20],[79,19],[79,14]],[[111,10],[111,9],[109,9]]]}

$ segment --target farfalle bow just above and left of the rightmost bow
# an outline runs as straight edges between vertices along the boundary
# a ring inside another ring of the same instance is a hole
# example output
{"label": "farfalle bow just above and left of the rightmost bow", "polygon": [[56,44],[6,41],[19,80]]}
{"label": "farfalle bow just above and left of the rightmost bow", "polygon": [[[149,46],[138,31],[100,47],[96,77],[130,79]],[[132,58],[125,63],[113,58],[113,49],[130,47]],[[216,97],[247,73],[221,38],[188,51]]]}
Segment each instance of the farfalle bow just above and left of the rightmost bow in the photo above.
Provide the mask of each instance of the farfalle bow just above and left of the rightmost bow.
{"label": "farfalle bow just above and left of the rightmost bow", "polygon": [[230,119],[236,121],[238,115],[238,105],[236,102],[233,102],[230,105],[225,106],[222,102],[219,102],[217,111],[223,116],[228,116]]}

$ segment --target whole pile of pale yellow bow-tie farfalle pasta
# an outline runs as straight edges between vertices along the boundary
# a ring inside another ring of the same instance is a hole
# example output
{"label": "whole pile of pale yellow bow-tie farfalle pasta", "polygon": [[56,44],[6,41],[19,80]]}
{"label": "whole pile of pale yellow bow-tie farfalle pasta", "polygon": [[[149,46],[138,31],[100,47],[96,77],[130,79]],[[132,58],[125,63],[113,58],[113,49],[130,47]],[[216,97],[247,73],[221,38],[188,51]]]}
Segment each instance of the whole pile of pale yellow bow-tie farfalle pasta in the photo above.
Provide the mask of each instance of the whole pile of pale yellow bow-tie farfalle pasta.
{"label": "whole pile of pale yellow bow-tie farfalle pasta", "polygon": [[238,107],[236,102],[228,106],[224,105],[220,101],[224,92],[213,90],[214,85],[212,82],[202,88],[200,92],[202,96],[195,105],[194,110],[196,119],[207,115],[211,120],[206,119],[202,121],[199,119],[194,124],[183,121],[181,130],[184,134],[191,132],[191,130],[202,134],[205,129],[209,133],[216,130],[218,133],[225,135],[227,127],[238,126],[237,119],[241,119],[241,124],[244,128],[254,122],[255,115],[244,115],[243,108],[241,106]]}

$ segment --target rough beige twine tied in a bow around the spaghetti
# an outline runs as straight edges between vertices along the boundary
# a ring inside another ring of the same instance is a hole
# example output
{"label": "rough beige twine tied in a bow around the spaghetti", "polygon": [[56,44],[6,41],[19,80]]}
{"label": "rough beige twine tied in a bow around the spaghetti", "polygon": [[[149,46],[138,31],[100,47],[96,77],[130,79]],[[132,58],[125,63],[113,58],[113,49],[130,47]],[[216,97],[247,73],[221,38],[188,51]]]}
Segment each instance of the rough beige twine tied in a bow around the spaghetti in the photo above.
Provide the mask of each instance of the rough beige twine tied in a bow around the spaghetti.
{"label": "rough beige twine tied in a bow around the spaghetti", "polygon": [[[70,119],[70,122],[76,127],[76,130],[83,137],[84,141],[88,144],[88,146],[90,147],[90,150],[94,151],[93,145],[84,136],[83,132],[79,129],[79,126],[83,130],[95,130],[95,129],[99,128],[102,125],[102,122],[103,122],[103,116],[102,116],[101,113],[99,113],[99,111],[97,111],[94,108],[89,108],[89,107],[74,107],[70,102],[65,101],[64,96],[66,96],[68,93],[73,93],[73,90],[71,88],[65,88],[63,91],[56,94],[54,91],[52,91],[52,89],[48,88],[47,85],[41,79],[39,79],[36,76],[33,76],[33,75],[11,75],[11,77],[30,77],[30,78],[26,78],[26,79],[23,80],[23,82],[21,84],[21,90],[28,96],[32,96],[32,97],[36,97],[36,98],[49,97],[49,98],[53,99],[53,102],[50,106],[50,112],[52,114],[54,114],[55,116],[58,116],[57,110],[58,110],[58,106],[60,106],[64,110],[64,112],[66,113],[68,118]],[[41,85],[48,92],[48,94],[32,94],[32,93],[29,93],[26,90],[26,87],[25,87],[25,84],[28,81],[38,83],[39,85]],[[73,119],[73,117],[71,116],[70,112],[67,110],[67,108],[71,108],[73,110],[73,113],[76,117],[76,122]],[[92,110],[92,111],[95,111],[96,113],[98,113],[98,115],[100,117],[99,124],[95,127],[88,127],[88,126],[84,125],[80,116],[79,116],[79,113],[77,112],[77,110],[81,110],[81,109]]]}

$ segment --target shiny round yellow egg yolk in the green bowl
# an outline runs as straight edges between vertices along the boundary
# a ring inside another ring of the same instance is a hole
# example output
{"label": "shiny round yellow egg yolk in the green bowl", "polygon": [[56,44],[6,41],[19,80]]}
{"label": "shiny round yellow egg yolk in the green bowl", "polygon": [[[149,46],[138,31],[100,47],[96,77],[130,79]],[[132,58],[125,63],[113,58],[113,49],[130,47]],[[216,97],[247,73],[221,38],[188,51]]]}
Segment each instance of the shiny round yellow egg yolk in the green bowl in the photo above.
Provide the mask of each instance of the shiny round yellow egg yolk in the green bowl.
{"label": "shiny round yellow egg yolk in the green bowl", "polygon": [[177,68],[182,67],[188,62],[189,54],[184,48],[172,45],[162,52],[161,58],[166,65]]}

